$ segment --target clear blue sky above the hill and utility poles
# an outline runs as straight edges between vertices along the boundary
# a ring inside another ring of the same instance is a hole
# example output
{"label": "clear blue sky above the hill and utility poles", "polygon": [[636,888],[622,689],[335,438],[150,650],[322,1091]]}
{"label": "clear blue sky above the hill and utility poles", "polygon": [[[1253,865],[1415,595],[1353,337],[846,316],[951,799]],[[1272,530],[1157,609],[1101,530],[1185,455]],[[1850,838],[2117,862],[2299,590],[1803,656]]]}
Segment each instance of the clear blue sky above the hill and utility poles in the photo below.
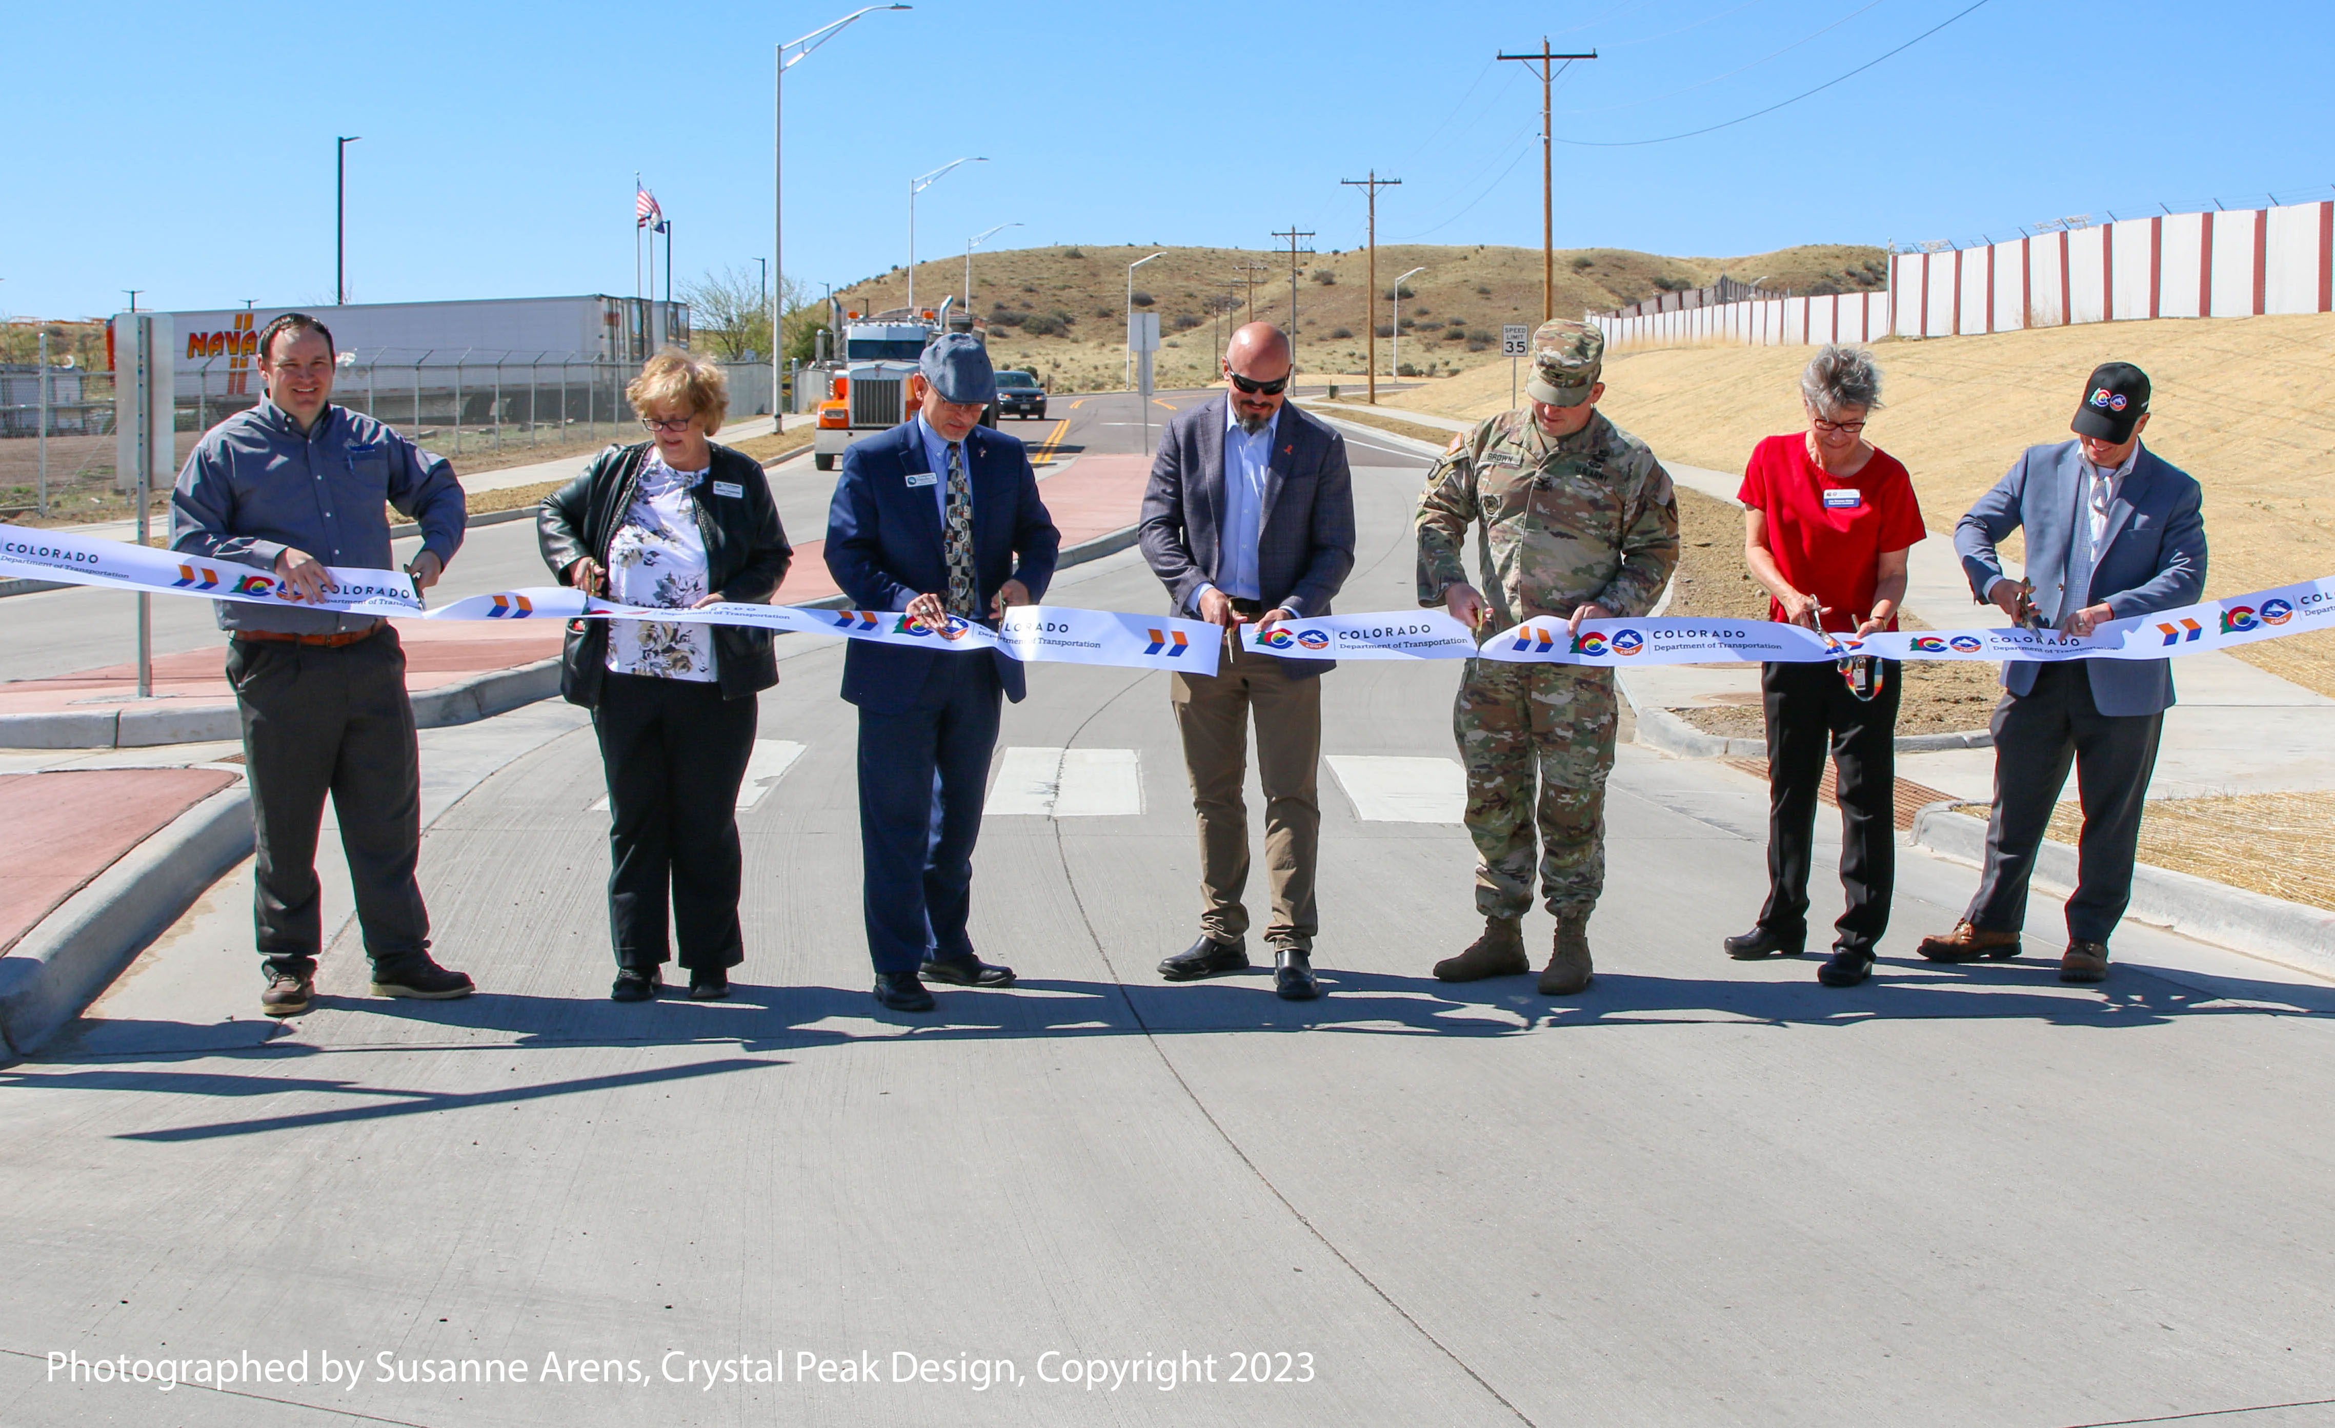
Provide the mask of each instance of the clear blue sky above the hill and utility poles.
{"label": "clear blue sky above the hill and utility poles", "polygon": [[[1968,0],[1569,7],[920,0],[787,77],[787,271],[848,282],[992,245],[1536,245],[1539,84],[1597,49],[1557,135],[1663,138],[1833,79]],[[0,313],[327,301],[332,140],[355,301],[633,289],[633,173],[675,275],[771,252],[771,44],[817,5],[47,5],[14,51]],[[280,23],[276,16],[294,16]],[[2197,16],[2209,16],[2200,21]],[[1782,51],[1782,54],[1777,54]],[[1557,149],[1557,245],[1733,257],[2003,236],[2102,212],[2328,196],[2335,7],[1989,0],[1810,100],[1702,138]],[[26,126],[26,119],[30,128]]]}

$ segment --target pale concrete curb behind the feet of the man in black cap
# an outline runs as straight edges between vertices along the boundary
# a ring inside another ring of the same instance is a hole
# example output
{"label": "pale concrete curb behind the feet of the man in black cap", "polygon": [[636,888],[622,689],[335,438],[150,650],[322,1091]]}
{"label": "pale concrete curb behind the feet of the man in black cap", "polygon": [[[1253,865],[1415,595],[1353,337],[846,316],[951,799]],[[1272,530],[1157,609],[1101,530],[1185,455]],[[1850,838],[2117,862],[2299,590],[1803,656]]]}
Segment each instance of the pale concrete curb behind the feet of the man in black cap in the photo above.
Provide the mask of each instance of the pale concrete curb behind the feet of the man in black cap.
{"label": "pale concrete curb behind the feet of the man in black cap", "polygon": [[[1952,803],[1931,803],[1915,814],[1915,847],[1957,863],[1985,866],[1987,826],[1952,810]],[[2045,840],[2036,852],[2034,880],[2059,891],[2073,889],[2076,849]],[[2288,961],[2319,978],[2335,978],[2335,912],[2137,863],[2132,868],[2132,905],[2125,908],[2125,917],[2172,929],[2200,943]]]}

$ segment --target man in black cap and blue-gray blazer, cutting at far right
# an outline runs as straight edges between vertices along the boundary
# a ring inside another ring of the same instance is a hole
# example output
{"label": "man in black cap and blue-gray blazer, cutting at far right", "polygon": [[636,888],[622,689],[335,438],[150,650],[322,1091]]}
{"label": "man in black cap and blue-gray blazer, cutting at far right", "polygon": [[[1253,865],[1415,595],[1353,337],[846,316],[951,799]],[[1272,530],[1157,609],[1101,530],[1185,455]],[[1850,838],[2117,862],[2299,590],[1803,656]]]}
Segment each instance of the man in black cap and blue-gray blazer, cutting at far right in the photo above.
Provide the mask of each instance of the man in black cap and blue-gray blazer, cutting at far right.
{"label": "man in black cap and blue-gray blazer, cutting at far right", "polygon": [[[2141,448],[2146,425],[2148,376],[2127,362],[2097,369],[2076,408],[2076,441],[2027,448],[1954,527],[1971,590],[2013,618],[2038,616],[2069,635],[2202,600],[2202,492]],[[2024,586],[2003,574],[1994,553],[2020,527]],[[2109,975],[2109,933],[2132,901],[2141,800],[2174,702],[2172,660],[2006,660],[2003,688],[1994,709],[1987,870],[1961,924],[1924,938],[1922,957],[2020,954],[2027,877],[2073,761],[2083,838],[2059,980],[2099,982]]]}

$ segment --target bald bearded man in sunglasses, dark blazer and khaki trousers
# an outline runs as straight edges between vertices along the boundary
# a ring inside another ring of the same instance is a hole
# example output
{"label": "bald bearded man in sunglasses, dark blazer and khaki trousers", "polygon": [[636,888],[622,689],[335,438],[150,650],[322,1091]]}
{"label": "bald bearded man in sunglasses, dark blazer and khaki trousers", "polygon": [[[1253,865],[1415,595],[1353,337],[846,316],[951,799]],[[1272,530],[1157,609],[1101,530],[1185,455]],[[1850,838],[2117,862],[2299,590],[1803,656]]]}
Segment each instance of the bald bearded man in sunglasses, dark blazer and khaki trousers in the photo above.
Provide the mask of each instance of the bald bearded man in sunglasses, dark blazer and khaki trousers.
{"label": "bald bearded man in sunglasses, dark blazer and khaki trousers", "polygon": [[1322,994],[1312,973],[1315,854],[1322,807],[1322,681],[1329,660],[1282,660],[1240,649],[1242,623],[1270,628],[1324,616],[1354,569],[1354,490],[1345,439],[1287,406],[1289,338],[1249,322],[1224,352],[1231,390],[1177,413],[1160,434],[1144,490],[1142,548],[1177,614],[1226,628],[1212,677],[1177,674],[1191,803],[1200,814],[1200,940],[1160,961],[1170,982],[1249,966],[1249,714],[1266,789],[1266,875],[1273,882],[1275,992]]}

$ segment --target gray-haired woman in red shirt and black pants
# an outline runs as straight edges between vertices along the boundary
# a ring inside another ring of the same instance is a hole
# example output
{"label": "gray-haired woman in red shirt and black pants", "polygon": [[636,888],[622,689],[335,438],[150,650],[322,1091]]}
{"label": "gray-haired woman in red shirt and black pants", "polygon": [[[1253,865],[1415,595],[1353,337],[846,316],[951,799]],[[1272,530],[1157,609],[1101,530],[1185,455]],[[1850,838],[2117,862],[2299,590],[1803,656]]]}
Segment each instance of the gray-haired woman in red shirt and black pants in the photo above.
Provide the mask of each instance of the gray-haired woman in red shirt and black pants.
{"label": "gray-haired woman in red shirt and black pants", "polygon": [[[1905,553],[1922,539],[1912,478],[1866,441],[1882,373],[1863,348],[1828,345],[1800,373],[1807,432],[1751,450],[1735,499],[1744,511],[1744,562],[1768,588],[1768,618],[1859,637],[1896,630]],[[1873,975],[1896,880],[1896,660],[1768,663],[1768,905],[1758,926],[1728,938],[1728,957],[1798,957],[1807,943],[1807,870],[1817,838],[1824,756],[1838,765],[1840,887],[1826,987]]]}

